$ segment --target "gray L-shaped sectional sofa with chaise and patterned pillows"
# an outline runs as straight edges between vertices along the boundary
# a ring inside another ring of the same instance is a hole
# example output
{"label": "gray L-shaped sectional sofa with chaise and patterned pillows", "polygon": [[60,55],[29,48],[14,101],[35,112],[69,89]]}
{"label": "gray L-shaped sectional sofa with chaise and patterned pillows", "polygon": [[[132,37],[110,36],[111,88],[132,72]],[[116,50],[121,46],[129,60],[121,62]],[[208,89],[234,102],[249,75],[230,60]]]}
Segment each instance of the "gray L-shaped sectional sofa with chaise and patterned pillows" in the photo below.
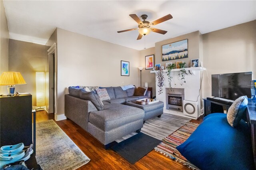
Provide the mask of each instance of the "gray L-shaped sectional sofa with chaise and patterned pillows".
{"label": "gray L-shaped sectional sofa with chaise and patterned pillows", "polygon": [[[100,87],[106,89],[109,100],[100,101],[95,91],[87,92],[77,87],[69,87],[69,94],[65,95],[65,116],[92,134],[108,148],[109,144],[131,132],[140,132],[143,127],[145,112],[143,109],[125,105],[126,103],[147,98],[134,96],[136,88],[126,91],[121,87]],[[159,109],[152,116],[163,113]]]}

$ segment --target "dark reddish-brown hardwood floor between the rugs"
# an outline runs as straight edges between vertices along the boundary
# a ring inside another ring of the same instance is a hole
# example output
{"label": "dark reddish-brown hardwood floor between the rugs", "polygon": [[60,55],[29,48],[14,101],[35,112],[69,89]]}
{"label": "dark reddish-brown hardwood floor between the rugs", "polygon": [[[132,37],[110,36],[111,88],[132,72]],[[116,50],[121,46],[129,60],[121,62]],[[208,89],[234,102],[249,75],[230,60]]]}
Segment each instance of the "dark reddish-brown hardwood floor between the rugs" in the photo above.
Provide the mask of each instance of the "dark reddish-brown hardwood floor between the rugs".
{"label": "dark reddish-brown hardwood floor between the rugs", "polygon": [[[48,114],[45,111],[36,112],[36,122],[54,119],[54,114]],[[201,123],[202,117],[198,120],[191,120],[194,123]],[[189,170],[181,163],[175,162],[170,158],[152,150],[146,156],[141,158],[135,164],[130,164],[116,152],[111,149],[105,150],[103,144],[96,140],[88,132],[80,128],[71,120],[56,122],[57,125],[74,141],[74,143],[88,156],[91,160],[86,165],[78,168],[85,169],[131,169],[131,170],[155,170],[155,169],[172,169],[172,170]]]}

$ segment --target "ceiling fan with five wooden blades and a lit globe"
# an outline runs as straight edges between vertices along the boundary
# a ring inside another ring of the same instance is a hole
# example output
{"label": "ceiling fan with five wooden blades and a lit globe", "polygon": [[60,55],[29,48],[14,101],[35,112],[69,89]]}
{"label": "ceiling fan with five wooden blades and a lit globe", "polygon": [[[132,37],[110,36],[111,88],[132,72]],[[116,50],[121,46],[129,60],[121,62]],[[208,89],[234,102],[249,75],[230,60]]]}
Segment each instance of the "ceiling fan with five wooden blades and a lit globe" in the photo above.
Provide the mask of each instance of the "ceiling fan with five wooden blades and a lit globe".
{"label": "ceiling fan with five wooden blades and a lit globe", "polygon": [[164,30],[159,30],[157,28],[152,28],[151,26],[155,26],[156,24],[160,24],[162,22],[165,22],[167,20],[172,19],[172,15],[168,14],[162,18],[159,18],[158,20],[155,20],[153,22],[148,22],[146,21],[146,19],[148,18],[148,16],[146,14],[142,15],[141,18],[143,21],[140,20],[140,18],[136,15],[136,14],[130,14],[130,17],[132,17],[132,19],[134,19],[139,25],[138,28],[132,28],[132,29],[128,29],[128,30],[122,30],[122,31],[118,31],[118,33],[120,32],[126,32],[126,31],[132,31],[132,30],[139,30],[139,36],[137,38],[137,40],[140,40],[142,38],[142,36],[146,36],[147,34],[149,34],[151,31],[152,32],[156,32],[159,34],[166,34],[167,31]]}

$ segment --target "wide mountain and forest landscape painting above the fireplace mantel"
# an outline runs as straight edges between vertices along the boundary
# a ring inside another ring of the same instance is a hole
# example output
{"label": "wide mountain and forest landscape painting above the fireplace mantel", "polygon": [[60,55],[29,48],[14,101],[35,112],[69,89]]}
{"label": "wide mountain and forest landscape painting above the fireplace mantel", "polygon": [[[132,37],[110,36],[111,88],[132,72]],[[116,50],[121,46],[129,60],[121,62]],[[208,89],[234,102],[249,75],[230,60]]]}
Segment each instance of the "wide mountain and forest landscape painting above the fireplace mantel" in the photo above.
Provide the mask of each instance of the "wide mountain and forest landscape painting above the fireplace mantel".
{"label": "wide mountain and forest landscape painting above the fireplace mantel", "polygon": [[162,45],[162,61],[188,58],[188,39]]}

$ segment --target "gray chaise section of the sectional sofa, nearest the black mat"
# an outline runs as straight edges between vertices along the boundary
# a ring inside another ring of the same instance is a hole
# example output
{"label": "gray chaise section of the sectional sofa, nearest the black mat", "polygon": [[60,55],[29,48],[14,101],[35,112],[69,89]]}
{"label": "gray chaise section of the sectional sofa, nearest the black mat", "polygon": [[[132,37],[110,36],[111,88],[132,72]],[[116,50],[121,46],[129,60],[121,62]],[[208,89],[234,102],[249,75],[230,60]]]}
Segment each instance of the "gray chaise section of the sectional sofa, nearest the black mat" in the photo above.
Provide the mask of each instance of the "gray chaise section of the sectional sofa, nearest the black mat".
{"label": "gray chaise section of the sectional sofa, nearest the black mat", "polygon": [[89,116],[88,132],[108,148],[118,138],[140,132],[143,127],[144,111],[120,104],[104,105],[102,111],[92,111]]}

